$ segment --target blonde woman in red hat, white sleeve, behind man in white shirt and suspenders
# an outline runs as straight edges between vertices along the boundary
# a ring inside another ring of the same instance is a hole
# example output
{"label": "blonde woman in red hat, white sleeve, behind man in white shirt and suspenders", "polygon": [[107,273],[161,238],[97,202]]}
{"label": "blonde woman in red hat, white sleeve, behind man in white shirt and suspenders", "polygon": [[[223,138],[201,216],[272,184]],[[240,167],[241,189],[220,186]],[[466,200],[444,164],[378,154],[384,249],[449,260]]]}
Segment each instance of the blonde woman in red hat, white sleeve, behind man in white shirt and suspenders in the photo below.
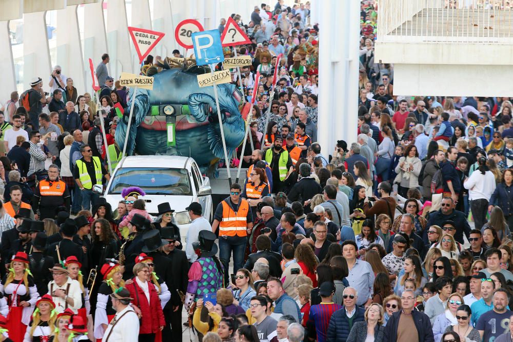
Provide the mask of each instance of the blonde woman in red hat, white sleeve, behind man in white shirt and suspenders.
{"label": "blonde woman in red hat, white sleeve, behind man in white shirt and suspenders", "polygon": [[116,311],[112,308],[110,295],[117,289],[125,287],[123,272],[121,272],[121,266],[119,264],[104,264],[100,273],[103,281],[98,289],[94,315],[94,337],[98,339],[103,338],[108,324],[116,314]]}

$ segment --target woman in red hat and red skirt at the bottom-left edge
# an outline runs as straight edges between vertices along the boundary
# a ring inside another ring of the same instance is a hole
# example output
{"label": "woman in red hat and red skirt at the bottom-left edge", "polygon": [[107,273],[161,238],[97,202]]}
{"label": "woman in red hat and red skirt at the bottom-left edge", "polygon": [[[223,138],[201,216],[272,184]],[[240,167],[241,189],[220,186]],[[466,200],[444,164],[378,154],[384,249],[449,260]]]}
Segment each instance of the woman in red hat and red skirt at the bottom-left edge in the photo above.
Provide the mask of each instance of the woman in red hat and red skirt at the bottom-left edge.
{"label": "woman in red hat and red skirt at the bottom-left edge", "polygon": [[22,342],[39,296],[34,279],[30,275],[27,253],[17,252],[13,256],[9,273],[0,284],[0,292],[7,298],[9,307],[7,316],[9,337],[14,342]]}

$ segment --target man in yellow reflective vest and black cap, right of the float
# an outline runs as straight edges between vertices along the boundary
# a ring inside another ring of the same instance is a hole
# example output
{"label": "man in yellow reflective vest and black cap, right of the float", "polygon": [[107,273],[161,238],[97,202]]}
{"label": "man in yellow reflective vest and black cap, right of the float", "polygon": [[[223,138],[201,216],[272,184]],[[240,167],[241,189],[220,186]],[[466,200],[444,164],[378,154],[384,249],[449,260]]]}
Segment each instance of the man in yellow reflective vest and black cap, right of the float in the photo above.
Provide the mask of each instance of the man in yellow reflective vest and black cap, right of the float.
{"label": "man in yellow reflective vest and black cap, right of the float", "polygon": [[265,161],[272,170],[272,192],[279,193],[285,189],[284,180],[287,171],[292,167],[292,159],[287,150],[282,147],[283,138],[277,135],[272,148],[265,151]]}

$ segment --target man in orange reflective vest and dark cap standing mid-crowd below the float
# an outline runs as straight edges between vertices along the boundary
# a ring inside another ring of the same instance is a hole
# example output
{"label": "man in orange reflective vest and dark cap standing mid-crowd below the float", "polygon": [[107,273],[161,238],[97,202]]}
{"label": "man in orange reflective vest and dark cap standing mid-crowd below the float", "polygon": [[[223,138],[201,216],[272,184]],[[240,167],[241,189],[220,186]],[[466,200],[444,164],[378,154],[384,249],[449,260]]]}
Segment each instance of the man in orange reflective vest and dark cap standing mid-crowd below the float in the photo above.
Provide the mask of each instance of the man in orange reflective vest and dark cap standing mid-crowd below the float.
{"label": "man in orange reflective vest and dark cap standing mid-crowd below the float", "polygon": [[[276,142],[276,140],[274,140]],[[246,199],[241,198],[241,186],[233,183],[230,186],[230,196],[215,209],[212,232],[219,227],[219,259],[228,270],[231,251],[233,251],[233,273],[244,266],[244,251],[247,235],[253,229],[253,215]],[[225,281],[228,284],[228,272],[225,272]]]}

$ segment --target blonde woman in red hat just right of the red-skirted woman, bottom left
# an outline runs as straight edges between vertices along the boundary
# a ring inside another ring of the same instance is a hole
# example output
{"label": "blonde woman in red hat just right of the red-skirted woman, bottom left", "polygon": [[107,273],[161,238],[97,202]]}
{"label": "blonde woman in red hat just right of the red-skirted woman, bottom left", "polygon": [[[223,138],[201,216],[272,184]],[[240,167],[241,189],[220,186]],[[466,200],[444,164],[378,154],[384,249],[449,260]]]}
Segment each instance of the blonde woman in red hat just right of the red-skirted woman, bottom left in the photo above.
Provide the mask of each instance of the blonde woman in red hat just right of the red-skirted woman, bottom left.
{"label": "blonde woman in red hat just right of the red-skirted woman, bottom left", "polygon": [[[32,314],[32,322],[25,332],[24,342],[48,341],[55,331],[55,303],[52,296],[45,294],[35,304],[35,310]],[[11,335],[9,333],[9,335]]]}

